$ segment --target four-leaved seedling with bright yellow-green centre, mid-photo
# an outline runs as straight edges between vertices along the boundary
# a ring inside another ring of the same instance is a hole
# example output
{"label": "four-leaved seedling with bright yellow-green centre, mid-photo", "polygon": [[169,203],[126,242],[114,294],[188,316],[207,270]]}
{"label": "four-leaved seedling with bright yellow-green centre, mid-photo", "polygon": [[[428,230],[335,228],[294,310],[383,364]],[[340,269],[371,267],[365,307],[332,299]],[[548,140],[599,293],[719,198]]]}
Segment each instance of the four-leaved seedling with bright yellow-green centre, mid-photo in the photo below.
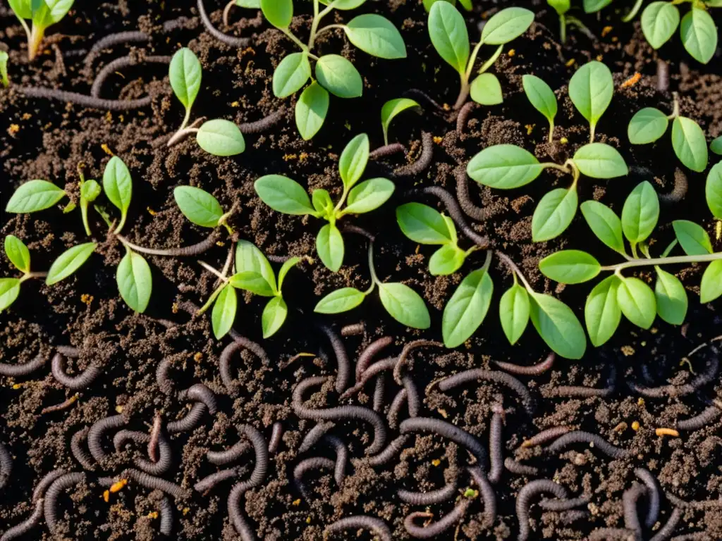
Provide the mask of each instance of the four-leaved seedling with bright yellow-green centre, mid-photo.
{"label": "four-leaved seedling with bright yellow-green centre, mid-photo", "polygon": [[356,185],[366,169],[368,154],[369,141],[365,133],[347,144],[339,159],[344,190],[335,205],[328,191],[313,190],[309,199],[303,186],[282,175],[266,175],[254,184],[258,197],[274,211],[313,216],[329,222],[318,232],[316,250],[323,265],[334,273],[344,262],[344,239],[336,222],[347,214],[364,214],[375,210],[388,201],[394,190],[393,182],[386,178],[372,178]]}

